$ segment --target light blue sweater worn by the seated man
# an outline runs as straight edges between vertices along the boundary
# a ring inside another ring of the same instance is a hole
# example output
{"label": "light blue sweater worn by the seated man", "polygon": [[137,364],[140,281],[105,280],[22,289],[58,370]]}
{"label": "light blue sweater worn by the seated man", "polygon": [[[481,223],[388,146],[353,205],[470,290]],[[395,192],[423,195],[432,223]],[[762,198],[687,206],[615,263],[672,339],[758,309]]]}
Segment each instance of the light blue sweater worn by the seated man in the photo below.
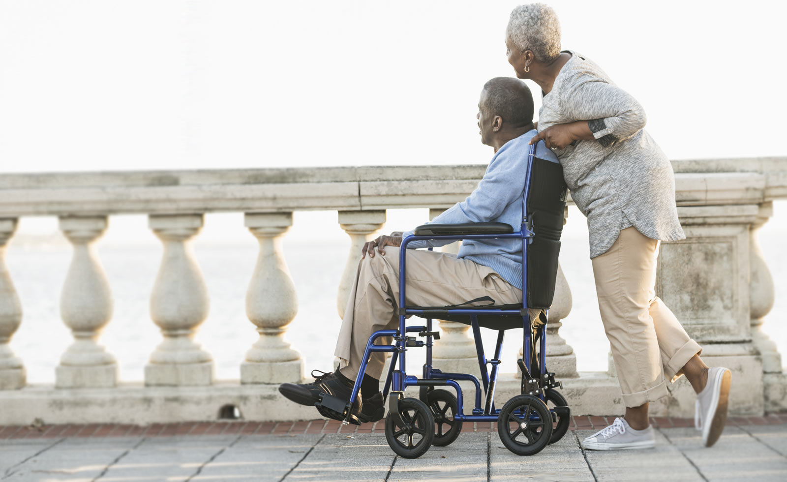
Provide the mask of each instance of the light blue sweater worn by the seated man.
{"label": "light blue sweater worn by the seated man", "polygon": [[[522,228],[522,196],[527,176],[528,142],[536,135],[533,129],[512,139],[497,150],[478,187],[462,202],[446,209],[433,224],[501,222],[514,231]],[[557,162],[544,142],[536,145],[536,157]],[[412,235],[412,230],[404,236]],[[451,241],[413,241],[408,248],[438,247]],[[456,258],[467,258],[494,269],[508,283],[522,289],[522,240],[482,239],[463,241]]]}

